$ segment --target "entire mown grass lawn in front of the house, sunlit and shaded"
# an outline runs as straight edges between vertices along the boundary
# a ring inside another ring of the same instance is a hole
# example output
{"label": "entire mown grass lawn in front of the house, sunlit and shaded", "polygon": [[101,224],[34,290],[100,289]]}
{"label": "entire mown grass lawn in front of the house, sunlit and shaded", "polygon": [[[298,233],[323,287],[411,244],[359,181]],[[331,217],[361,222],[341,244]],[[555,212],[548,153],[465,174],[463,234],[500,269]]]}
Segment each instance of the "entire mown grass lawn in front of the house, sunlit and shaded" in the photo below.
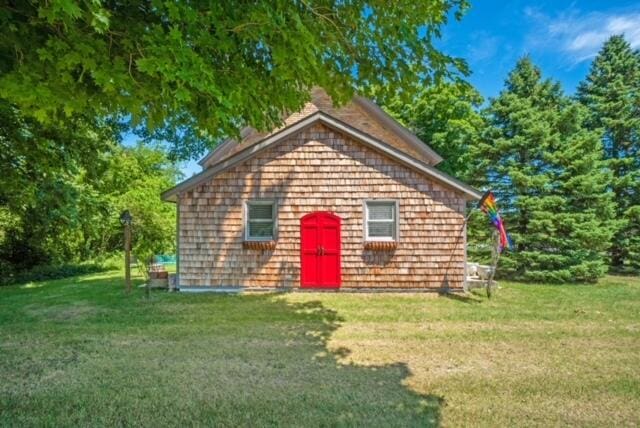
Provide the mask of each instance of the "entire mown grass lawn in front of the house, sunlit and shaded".
{"label": "entire mown grass lawn in front of the house, sunlit and shaded", "polygon": [[640,279],[432,295],[0,288],[0,425],[640,424]]}

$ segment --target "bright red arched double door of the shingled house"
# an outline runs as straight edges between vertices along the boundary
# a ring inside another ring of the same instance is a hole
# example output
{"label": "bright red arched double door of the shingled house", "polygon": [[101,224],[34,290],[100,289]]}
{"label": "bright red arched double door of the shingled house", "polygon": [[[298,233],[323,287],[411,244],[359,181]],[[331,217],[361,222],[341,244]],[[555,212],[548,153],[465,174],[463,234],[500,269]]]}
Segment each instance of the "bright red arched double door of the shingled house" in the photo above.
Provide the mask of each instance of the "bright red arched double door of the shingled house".
{"label": "bright red arched double door of the shingled house", "polygon": [[307,214],[300,219],[300,240],[300,286],[340,287],[340,217]]}

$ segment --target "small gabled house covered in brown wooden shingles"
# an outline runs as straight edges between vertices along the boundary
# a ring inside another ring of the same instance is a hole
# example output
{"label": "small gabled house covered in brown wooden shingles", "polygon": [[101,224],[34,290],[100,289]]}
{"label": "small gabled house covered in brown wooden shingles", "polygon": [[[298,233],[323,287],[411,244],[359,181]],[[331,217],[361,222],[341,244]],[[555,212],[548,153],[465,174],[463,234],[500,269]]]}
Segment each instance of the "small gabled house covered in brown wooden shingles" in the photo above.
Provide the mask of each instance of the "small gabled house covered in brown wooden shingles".
{"label": "small gabled house covered in brown wooden shingles", "polygon": [[481,194],[373,102],[322,89],[271,132],[245,128],[163,193],[181,290],[462,289]]}

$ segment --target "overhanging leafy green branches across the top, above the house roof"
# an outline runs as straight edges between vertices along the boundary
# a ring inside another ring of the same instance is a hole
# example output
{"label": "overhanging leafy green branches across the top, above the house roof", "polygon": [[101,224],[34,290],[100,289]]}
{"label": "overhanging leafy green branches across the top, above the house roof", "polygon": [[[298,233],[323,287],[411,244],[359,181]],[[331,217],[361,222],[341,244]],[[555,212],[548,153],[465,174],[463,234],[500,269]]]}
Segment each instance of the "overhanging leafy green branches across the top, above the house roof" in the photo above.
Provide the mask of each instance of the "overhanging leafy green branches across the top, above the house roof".
{"label": "overhanging leafy green branches across the top, above the house roof", "polygon": [[[319,85],[394,91],[466,66],[434,47],[467,0],[10,2],[0,98],[56,122],[126,115],[189,157],[240,125],[270,128]],[[155,132],[158,134],[155,134]]]}

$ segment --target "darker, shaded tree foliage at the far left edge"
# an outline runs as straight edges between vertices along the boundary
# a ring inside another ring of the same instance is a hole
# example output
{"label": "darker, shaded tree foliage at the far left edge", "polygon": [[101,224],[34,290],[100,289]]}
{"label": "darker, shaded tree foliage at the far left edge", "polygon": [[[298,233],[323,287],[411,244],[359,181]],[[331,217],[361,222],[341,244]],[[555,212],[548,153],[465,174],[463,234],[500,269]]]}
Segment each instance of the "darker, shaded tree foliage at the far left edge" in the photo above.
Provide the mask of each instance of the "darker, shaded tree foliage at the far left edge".
{"label": "darker, shaded tree foliage at the far left edge", "polygon": [[[100,210],[83,171],[99,165],[115,130],[75,116],[44,126],[0,100],[0,259],[21,269],[83,257],[86,210]],[[78,245],[70,245],[74,242]]]}

